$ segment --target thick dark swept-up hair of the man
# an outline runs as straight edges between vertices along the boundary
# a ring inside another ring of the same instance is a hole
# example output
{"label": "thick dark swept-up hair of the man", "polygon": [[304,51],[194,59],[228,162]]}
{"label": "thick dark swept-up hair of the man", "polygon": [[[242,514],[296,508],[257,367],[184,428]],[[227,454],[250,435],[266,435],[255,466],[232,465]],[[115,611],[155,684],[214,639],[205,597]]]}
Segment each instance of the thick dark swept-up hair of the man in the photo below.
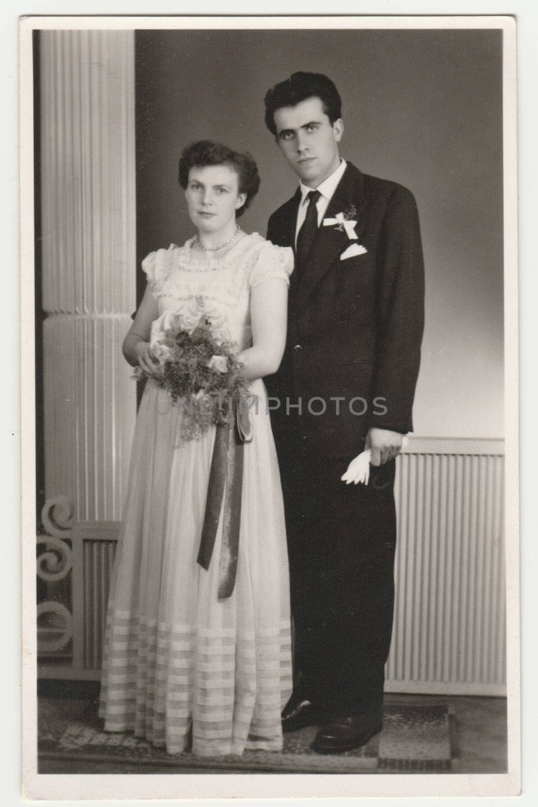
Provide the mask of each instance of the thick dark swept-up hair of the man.
{"label": "thick dark swept-up hair of the man", "polygon": [[296,107],[307,98],[319,98],[331,123],[342,117],[342,99],[331,79],[323,73],[293,73],[265,93],[265,125],[275,137],[274,113],[281,107]]}

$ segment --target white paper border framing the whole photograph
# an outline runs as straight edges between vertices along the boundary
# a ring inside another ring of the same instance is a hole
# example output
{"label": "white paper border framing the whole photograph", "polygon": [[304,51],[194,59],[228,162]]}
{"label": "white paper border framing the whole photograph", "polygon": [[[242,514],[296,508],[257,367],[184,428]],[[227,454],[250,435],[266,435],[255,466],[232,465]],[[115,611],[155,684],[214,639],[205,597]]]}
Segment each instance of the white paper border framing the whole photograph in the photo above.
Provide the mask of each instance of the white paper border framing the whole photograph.
{"label": "white paper border framing the whole photograph", "polygon": [[[31,97],[31,30],[45,28],[503,28],[504,92],[504,252],[505,252],[505,462],[507,525],[507,774],[500,775],[290,775],[204,774],[109,775],[102,777],[39,775],[36,771],[35,720],[35,366],[33,260],[33,104]],[[31,17],[21,23],[21,307],[22,307],[22,455],[23,455],[23,770],[27,797],[72,798],[210,798],[210,797],[373,797],[503,796],[519,792],[519,523],[518,494],[518,275],[516,179],[515,24],[494,17]],[[31,192],[28,192],[28,188]],[[113,781],[112,781],[113,780]]]}

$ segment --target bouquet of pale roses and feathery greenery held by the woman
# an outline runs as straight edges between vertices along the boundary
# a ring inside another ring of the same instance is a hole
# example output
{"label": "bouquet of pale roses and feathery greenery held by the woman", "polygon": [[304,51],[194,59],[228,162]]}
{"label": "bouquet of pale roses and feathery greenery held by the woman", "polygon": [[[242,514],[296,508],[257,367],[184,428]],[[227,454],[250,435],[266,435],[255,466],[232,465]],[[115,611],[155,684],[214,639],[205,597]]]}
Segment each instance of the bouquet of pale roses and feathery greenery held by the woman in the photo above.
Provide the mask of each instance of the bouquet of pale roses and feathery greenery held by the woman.
{"label": "bouquet of pale roses and feathery greenery held by the woman", "polygon": [[[222,326],[219,315],[211,316],[201,301],[190,311],[165,312],[152,324],[150,353],[159,370],[151,378],[186,414],[184,440],[202,436],[210,424],[231,423],[249,397],[237,344]],[[136,378],[147,375],[140,367],[135,372]]]}

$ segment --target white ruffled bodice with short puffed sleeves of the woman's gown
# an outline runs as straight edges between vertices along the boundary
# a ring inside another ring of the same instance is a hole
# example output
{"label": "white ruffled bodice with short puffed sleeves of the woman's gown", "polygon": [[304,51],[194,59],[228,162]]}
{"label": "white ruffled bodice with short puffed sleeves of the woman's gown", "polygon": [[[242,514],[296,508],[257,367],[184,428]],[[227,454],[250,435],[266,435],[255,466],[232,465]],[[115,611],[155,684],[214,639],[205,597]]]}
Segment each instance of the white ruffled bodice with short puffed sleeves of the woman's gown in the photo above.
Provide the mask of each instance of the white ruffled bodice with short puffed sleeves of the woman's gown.
{"label": "white ruffled bodice with short puffed sleeves of the woman's gown", "polygon": [[152,285],[160,316],[167,312],[195,316],[204,311],[226,324],[240,349],[252,345],[250,293],[261,283],[282,278],[290,282],[293,250],[277,247],[257,232],[242,236],[222,258],[196,257],[193,238],[181,247],[149,253],[142,269]]}

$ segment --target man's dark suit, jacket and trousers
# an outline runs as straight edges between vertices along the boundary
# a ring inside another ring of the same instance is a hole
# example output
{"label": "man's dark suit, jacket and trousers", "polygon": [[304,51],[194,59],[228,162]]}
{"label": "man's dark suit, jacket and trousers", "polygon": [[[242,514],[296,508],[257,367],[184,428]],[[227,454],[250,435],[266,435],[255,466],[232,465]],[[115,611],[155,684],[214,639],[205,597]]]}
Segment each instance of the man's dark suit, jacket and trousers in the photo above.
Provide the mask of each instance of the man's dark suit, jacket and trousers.
{"label": "man's dark suit, jacket and trousers", "polygon": [[[298,190],[271,215],[273,244],[294,247],[300,199]],[[352,715],[382,705],[394,604],[394,460],[372,468],[368,486],[340,477],[364,450],[370,427],[412,429],[423,255],[406,188],[348,163],[324,218],[340,212],[357,221],[357,240],[344,229],[319,227],[292,274],[286,353],[266,383],[281,402],[272,422],[296,669],[305,696],[329,715]],[[341,260],[352,244],[366,251]]]}

